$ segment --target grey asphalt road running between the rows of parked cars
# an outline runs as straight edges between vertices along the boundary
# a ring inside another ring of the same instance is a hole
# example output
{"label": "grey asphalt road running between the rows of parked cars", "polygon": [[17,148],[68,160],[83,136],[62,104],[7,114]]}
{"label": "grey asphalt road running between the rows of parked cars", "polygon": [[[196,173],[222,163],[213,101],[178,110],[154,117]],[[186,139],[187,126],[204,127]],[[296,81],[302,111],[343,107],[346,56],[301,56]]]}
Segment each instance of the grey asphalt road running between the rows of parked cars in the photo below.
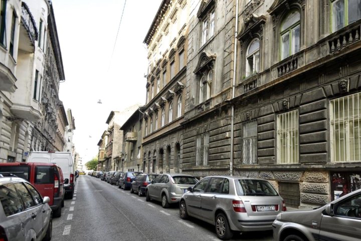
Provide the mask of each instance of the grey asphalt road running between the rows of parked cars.
{"label": "grey asphalt road running between the rows of parked cars", "polygon": [[[52,240],[220,240],[215,228],[198,219],[182,220],[178,205],[158,202],[124,191],[100,179],[82,175],[73,199],[53,219]],[[231,240],[270,241],[272,231],[236,234]]]}

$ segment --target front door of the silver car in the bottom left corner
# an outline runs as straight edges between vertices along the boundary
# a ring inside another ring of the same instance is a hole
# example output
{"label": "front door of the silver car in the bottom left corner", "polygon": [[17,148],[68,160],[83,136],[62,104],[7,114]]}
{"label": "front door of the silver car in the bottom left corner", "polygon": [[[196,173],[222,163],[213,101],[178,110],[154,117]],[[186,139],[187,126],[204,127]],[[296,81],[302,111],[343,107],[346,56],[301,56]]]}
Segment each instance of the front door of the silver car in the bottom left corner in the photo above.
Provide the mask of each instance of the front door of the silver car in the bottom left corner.
{"label": "front door of the silver car in the bottom left corner", "polygon": [[25,211],[29,215],[28,223],[26,224],[27,231],[34,229],[36,236],[41,236],[43,232],[43,206],[36,203],[23,182],[14,183],[14,185],[23,200]]}

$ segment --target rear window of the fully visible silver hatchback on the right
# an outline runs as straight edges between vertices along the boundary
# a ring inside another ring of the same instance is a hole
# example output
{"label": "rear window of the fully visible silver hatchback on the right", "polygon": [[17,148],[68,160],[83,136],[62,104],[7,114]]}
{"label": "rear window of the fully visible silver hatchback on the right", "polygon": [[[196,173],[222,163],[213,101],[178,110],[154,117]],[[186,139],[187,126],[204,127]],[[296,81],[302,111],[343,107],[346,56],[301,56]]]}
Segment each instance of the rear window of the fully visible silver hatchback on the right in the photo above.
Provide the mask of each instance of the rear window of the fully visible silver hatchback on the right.
{"label": "rear window of the fully visible silver hatchback on the right", "polygon": [[258,179],[235,180],[239,196],[278,196],[271,183]]}

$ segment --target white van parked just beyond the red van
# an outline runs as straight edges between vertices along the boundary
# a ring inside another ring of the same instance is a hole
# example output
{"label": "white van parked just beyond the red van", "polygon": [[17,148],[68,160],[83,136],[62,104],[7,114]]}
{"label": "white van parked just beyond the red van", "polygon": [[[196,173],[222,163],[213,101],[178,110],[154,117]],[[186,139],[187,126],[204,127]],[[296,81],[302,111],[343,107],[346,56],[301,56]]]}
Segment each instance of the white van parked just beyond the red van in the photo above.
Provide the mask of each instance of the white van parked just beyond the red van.
{"label": "white van parked just beyond the red van", "polygon": [[74,194],[75,168],[69,152],[31,152],[27,162],[56,163],[63,171],[65,194],[72,198]]}

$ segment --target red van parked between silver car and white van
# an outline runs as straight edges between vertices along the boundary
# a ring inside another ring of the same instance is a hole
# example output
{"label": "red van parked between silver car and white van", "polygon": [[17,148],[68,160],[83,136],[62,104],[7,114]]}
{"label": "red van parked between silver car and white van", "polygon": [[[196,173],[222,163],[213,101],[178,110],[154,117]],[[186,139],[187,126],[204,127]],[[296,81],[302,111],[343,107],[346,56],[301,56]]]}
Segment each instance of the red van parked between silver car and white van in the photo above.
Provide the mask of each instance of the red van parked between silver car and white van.
{"label": "red van parked between silver car and white van", "polygon": [[48,204],[53,210],[53,216],[61,216],[65,190],[63,172],[58,165],[38,162],[0,163],[0,174],[13,174],[29,181],[43,197],[50,198]]}

